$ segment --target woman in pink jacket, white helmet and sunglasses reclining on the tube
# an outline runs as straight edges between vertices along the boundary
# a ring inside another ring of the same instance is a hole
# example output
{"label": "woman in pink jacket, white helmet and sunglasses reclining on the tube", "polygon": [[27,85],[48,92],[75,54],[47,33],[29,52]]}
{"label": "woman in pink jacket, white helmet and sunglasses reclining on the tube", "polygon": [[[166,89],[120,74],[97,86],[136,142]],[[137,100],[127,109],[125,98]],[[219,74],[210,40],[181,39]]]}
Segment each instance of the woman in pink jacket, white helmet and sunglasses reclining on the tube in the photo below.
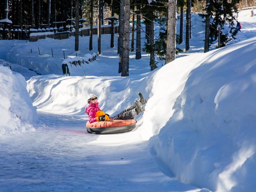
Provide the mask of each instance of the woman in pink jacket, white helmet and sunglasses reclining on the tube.
{"label": "woman in pink jacket, white helmet and sunglasses reclining on the tube", "polygon": [[109,121],[109,120],[128,120],[134,119],[140,112],[145,110],[144,104],[147,100],[144,99],[143,95],[139,92],[140,100],[135,100],[134,104],[123,110],[114,117],[109,117],[104,111],[100,110],[98,97],[95,94],[89,94],[87,98],[88,106],[85,108],[85,112],[89,116],[89,122],[93,123],[96,121]]}

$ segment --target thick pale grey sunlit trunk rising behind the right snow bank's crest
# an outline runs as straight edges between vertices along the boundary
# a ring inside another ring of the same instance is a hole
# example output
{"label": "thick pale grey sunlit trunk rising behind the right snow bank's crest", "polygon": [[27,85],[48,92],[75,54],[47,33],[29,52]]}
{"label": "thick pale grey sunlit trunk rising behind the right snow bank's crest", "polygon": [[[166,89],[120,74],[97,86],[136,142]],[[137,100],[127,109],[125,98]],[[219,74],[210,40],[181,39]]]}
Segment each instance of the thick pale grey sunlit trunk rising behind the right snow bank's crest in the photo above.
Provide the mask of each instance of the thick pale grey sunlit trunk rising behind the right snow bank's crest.
{"label": "thick pale grey sunlit trunk rising behind the right snow bank's crest", "polygon": [[168,0],[168,27],[165,64],[175,60],[176,49],[176,0]]}

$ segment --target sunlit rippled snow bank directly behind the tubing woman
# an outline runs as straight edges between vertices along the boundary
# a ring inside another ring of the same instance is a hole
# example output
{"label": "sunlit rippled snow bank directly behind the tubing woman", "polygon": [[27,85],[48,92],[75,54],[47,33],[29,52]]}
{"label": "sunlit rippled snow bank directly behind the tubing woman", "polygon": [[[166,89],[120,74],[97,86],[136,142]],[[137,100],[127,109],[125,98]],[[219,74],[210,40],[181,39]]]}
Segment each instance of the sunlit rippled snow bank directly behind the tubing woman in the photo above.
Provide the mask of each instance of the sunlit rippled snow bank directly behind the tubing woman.
{"label": "sunlit rippled snow bank directly behind the tubing woman", "polygon": [[32,77],[27,88],[34,106],[42,112],[86,116],[86,98],[94,93],[98,96],[100,108],[112,115],[132,105],[138,99],[139,91],[148,98],[150,77],[147,74],[142,77],[138,80],[129,77],[45,75]]}

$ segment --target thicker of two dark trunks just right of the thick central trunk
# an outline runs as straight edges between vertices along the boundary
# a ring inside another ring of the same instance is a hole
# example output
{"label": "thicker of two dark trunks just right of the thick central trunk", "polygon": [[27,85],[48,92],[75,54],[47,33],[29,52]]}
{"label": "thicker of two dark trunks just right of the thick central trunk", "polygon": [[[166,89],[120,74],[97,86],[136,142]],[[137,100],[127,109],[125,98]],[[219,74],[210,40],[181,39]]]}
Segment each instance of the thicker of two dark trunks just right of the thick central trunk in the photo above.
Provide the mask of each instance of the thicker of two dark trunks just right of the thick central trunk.
{"label": "thicker of two dark trunks just right of the thick central trunk", "polygon": [[136,59],[141,59],[141,43],[140,43],[140,1],[137,0],[137,26],[136,26]]}

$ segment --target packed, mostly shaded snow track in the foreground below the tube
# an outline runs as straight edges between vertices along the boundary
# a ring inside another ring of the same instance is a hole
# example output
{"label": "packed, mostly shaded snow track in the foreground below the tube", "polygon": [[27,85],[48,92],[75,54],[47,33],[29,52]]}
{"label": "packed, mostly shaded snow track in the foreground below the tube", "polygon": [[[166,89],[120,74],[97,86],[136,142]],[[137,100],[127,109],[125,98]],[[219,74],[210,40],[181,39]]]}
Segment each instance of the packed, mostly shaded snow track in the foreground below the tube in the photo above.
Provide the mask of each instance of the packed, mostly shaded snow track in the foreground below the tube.
{"label": "packed, mostly shaded snow track in the foreground below the tube", "polygon": [[199,191],[164,175],[148,142],[93,144],[99,136],[86,132],[82,118],[39,118],[36,132],[0,142],[1,192]]}

